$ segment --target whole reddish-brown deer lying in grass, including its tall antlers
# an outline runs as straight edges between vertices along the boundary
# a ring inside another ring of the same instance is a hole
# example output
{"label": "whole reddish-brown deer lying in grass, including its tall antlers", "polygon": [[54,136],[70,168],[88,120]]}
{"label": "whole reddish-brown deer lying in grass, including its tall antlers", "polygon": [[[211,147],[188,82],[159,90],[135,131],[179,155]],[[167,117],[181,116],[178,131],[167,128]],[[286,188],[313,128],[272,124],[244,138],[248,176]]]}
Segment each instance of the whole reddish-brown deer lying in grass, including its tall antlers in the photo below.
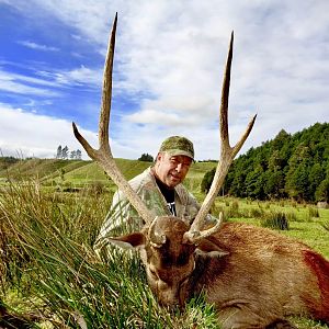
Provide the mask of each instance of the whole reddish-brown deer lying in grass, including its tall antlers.
{"label": "whole reddish-brown deer lying in grass, including its tall antlers", "polygon": [[204,226],[228,169],[248,138],[256,115],[237,144],[228,134],[231,33],[219,109],[220,158],[213,184],[191,225],[174,216],[154,217],[117,168],[109,143],[117,14],[104,65],[99,148],[92,148],[72,123],[73,134],[123,191],[144,220],[139,231],[109,237],[115,246],[139,251],[148,284],[164,307],[184,307],[201,292],[214,305],[222,328],[296,328],[288,316],[329,324],[329,262],[300,241],[273,230],[223,219]]}

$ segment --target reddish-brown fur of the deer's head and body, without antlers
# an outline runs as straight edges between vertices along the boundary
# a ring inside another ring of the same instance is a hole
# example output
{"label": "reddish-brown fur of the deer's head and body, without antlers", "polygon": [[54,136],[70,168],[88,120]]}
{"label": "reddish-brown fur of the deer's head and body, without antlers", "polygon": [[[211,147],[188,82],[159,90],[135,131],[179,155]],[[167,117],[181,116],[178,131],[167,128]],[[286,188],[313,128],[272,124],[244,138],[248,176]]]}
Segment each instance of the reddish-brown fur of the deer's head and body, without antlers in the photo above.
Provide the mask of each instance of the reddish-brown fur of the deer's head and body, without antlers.
{"label": "reddish-brown fur of the deer's head and body, without antlers", "polygon": [[[182,220],[158,222],[166,243],[151,246],[145,228],[143,245],[135,247],[160,304],[183,306],[203,291],[223,328],[294,328],[285,321],[290,315],[329,324],[329,262],[306,245],[270,229],[226,223],[194,246],[182,242],[189,230]],[[132,237],[136,241],[136,234]]]}

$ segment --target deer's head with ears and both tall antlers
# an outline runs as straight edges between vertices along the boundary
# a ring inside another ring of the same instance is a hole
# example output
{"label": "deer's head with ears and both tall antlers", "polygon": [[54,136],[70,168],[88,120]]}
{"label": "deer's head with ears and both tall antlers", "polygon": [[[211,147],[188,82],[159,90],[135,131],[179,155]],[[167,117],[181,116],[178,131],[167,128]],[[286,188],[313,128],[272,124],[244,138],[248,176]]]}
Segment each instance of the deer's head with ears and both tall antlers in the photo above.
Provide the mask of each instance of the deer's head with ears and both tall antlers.
{"label": "deer's head with ears and both tall antlers", "polygon": [[182,304],[188,295],[188,285],[191,284],[190,279],[194,270],[195,257],[200,253],[207,253],[211,257],[218,257],[226,253],[225,250],[222,250],[218,246],[213,243],[211,239],[211,236],[220,229],[223,214],[220,214],[217,223],[211,228],[203,229],[204,219],[224,183],[229,166],[252,129],[256,115],[250,121],[239,141],[231,147],[229,145],[227,118],[234,42],[234,34],[231,34],[219,111],[220,159],[209,192],[191,227],[188,227],[186,224],[177,217],[154,218],[150,211],[131,188],[117,168],[109,144],[116,23],[117,15],[115,15],[113,23],[104,68],[103,97],[99,123],[99,149],[94,149],[89,145],[79,133],[75,123],[72,124],[73,133],[89,157],[104,169],[146,223],[140,232],[134,232],[124,237],[109,238],[109,240],[121,247],[140,249],[140,256],[146,264],[149,284],[159,297],[159,300],[164,305]]}

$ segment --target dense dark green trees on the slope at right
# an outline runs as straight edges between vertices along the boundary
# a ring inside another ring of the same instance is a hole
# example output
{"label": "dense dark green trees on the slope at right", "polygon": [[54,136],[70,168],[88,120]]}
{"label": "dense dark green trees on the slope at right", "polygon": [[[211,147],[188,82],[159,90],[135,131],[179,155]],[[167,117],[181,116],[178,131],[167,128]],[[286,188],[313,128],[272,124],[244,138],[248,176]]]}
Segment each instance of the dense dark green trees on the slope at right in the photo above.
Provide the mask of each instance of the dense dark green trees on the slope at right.
{"label": "dense dark green trees on the slope at right", "polygon": [[[215,169],[205,173],[207,191]],[[282,129],[274,139],[249,149],[230,167],[220,194],[257,200],[329,201],[329,124],[296,134]]]}

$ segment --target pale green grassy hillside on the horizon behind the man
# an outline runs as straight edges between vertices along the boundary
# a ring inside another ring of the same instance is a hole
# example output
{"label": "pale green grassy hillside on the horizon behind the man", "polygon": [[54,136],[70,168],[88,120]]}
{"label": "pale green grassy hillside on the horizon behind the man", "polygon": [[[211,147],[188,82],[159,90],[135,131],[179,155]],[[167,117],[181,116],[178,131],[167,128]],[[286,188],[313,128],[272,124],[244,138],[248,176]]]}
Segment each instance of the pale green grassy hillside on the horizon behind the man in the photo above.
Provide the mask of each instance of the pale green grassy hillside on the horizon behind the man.
{"label": "pale green grassy hillside on the horizon behind the man", "polygon": [[[118,168],[127,180],[137,175],[151,162],[116,159]],[[1,166],[2,163],[2,166]],[[200,184],[206,171],[214,168],[214,162],[195,162],[192,164],[184,184],[193,193],[200,193]],[[27,180],[38,179],[46,185],[67,185],[81,188],[86,184],[101,183],[111,189],[115,189],[114,184],[93,161],[82,160],[58,160],[58,159],[29,159],[7,161],[0,158],[0,180]]]}

